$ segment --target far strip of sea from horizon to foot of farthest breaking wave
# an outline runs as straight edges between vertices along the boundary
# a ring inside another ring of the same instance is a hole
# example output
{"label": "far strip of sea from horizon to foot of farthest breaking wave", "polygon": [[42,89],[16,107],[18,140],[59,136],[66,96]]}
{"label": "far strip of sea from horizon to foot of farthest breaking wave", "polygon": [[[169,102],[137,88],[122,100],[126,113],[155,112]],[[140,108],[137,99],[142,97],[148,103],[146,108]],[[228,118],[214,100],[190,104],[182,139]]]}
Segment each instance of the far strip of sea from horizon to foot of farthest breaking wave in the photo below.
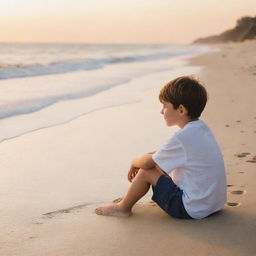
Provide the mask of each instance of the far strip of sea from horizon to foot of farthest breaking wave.
{"label": "far strip of sea from horizon to foot of farthest breaking wave", "polygon": [[208,51],[207,46],[0,44],[0,79],[101,69],[115,63],[167,59]]}

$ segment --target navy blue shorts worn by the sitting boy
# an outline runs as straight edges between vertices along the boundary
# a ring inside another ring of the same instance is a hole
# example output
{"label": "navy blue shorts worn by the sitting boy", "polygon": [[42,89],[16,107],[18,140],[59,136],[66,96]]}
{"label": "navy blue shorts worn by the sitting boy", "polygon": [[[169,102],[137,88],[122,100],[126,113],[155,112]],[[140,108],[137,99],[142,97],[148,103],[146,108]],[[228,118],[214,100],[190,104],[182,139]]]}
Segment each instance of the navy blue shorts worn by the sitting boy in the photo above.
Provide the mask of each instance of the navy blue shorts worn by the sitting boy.
{"label": "navy blue shorts worn by the sitting boy", "polygon": [[169,175],[166,173],[161,175],[156,186],[152,186],[152,190],[152,200],[167,214],[174,218],[192,219],[183,205],[183,191],[173,182]]}

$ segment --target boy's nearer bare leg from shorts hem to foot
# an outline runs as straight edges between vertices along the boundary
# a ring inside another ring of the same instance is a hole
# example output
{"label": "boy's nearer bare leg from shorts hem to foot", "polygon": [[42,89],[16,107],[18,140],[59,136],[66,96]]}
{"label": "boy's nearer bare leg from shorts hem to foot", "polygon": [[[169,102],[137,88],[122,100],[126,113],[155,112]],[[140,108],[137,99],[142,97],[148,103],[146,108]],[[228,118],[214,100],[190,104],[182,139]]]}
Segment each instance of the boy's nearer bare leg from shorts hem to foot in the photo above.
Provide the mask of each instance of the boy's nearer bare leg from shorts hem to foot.
{"label": "boy's nearer bare leg from shorts hem to foot", "polygon": [[163,172],[157,167],[140,169],[126,196],[119,203],[98,207],[95,212],[99,215],[129,216],[133,205],[148,192],[150,185],[156,185],[162,174]]}

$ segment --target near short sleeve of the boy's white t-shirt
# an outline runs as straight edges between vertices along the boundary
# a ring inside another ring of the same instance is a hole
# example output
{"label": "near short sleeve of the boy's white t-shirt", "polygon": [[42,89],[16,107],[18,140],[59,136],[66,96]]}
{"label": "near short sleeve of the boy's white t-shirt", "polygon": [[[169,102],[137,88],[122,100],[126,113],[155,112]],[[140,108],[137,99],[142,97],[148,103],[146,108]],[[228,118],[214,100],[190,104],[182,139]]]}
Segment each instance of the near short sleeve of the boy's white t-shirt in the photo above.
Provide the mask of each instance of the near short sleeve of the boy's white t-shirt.
{"label": "near short sleeve of the boy's white t-shirt", "polygon": [[181,167],[186,162],[186,154],[181,142],[172,137],[159,151],[152,155],[154,162],[165,172]]}

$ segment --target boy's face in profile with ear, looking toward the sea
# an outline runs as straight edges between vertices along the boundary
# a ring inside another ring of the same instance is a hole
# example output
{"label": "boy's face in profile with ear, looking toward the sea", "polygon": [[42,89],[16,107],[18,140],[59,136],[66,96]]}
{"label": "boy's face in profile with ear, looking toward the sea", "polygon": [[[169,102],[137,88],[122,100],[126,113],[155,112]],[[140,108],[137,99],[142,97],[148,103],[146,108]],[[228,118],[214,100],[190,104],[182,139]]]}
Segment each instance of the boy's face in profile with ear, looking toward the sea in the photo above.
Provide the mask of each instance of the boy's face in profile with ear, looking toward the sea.
{"label": "boy's face in profile with ear, looking toward the sea", "polygon": [[164,116],[167,126],[180,126],[183,119],[183,110],[180,107],[174,109],[170,102],[163,101],[162,104],[163,108],[161,110],[161,114]]}

